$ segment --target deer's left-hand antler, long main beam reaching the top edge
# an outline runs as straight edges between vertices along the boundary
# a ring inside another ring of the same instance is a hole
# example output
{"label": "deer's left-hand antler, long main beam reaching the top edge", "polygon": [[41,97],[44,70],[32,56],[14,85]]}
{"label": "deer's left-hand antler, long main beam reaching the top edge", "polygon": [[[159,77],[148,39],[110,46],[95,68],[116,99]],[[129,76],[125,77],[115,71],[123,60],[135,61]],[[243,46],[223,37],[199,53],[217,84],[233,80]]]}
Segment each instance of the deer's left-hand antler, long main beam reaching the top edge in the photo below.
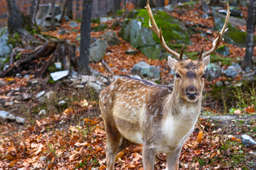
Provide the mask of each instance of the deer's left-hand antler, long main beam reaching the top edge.
{"label": "deer's left-hand antler, long main beam reaching the top edge", "polygon": [[[153,16],[153,13],[151,11],[151,8],[149,6],[149,0],[147,0],[146,2],[146,11],[148,11],[149,13],[149,28],[151,30],[154,31],[154,33],[156,33],[157,37],[159,38],[160,42],[161,42],[161,45],[164,47],[164,49],[169,52],[171,55],[174,55],[176,56],[177,58],[180,57],[180,55],[178,54],[178,52],[175,52],[174,50],[171,50],[167,45],[166,45],[166,42],[164,41],[164,37],[161,33],[161,28],[159,30],[159,28],[157,27],[156,25],[156,21],[154,21],[154,16]],[[152,22],[152,25],[151,25],[151,22]]]}

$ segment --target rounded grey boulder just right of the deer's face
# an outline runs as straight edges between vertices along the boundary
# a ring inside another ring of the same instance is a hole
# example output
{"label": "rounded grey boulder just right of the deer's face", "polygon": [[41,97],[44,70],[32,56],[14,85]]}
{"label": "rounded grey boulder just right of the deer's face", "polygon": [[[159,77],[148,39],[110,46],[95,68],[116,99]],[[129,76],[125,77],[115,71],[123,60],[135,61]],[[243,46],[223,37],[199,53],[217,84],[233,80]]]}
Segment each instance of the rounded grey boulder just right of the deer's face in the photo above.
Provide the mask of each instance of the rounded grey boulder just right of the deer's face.
{"label": "rounded grey boulder just right of the deer's face", "polygon": [[214,79],[217,79],[218,77],[221,77],[221,68],[218,64],[210,63],[206,67],[206,80],[207,81],[213,81]]}

